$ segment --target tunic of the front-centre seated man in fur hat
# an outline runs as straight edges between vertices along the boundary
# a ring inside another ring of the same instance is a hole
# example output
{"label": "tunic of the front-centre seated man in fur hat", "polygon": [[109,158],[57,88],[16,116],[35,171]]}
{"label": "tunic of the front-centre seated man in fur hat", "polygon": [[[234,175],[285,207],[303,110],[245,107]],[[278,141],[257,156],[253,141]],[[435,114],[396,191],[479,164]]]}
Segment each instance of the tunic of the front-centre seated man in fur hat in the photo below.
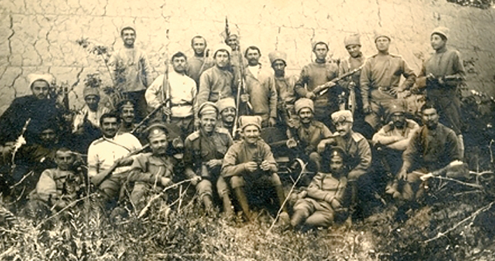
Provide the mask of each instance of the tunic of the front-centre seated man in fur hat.
{"label": "tunic of the front-centre seated man in fur hat", "polygon": [[277,166],[277,161],[273,157],[270,146],[262,139],[257,141],[255,148],[251,148],[245,141],[237,141],[234,145],[231,145],[224,157],[222,177],[243,175],[245,173],[243,163],[254,161],[257,164],[261,164],[265,160]]}

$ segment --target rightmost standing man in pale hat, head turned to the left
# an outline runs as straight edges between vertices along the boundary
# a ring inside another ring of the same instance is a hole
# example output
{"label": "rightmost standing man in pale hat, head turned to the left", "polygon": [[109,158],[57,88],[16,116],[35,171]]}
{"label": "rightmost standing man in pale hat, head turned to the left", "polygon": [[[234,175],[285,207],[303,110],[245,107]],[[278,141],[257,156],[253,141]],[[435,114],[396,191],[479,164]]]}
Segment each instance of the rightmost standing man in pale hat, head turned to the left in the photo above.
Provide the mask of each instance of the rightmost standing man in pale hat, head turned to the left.
{"label": "rightmost standing man in pale hat, head turned to the left", "polygon": [[464,155],[464,139],[461,133],[461,108],[457,86],[462,84],[466,72],[457,50],[447,49],[449,29],[438,27],[432,31],[430,42],[435,53],[423,63],[418,87],[426,88],[426,97],[437,105],[440,122],[452,129],[459,139],[459,149]]}

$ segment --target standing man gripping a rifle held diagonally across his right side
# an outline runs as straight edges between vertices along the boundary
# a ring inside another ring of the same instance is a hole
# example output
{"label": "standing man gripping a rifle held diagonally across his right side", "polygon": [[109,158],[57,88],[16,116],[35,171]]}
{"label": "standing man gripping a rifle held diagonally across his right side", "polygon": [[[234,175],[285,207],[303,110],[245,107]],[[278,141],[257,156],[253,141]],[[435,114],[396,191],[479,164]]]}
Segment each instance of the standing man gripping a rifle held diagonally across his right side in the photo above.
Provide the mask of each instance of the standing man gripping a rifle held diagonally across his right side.
{"label": "standing man gripping a rifle held diagonally across his right side", "polygon": [[314,100],[314,118],[327,126],[331,126],[330,115],[339,108],[336,102],[333,104],[330,100],[335,97],[331,97],[330,93],[332,92],[330,91],[323,95],[317,95],[312,90],[337,77],[339,69],[334,63],[327,63],[326,61],[328,54],[328,44],[326,42],[315,42],[313,52],[317,57],[316,61],[303,67],[294,90],[300,97]]}

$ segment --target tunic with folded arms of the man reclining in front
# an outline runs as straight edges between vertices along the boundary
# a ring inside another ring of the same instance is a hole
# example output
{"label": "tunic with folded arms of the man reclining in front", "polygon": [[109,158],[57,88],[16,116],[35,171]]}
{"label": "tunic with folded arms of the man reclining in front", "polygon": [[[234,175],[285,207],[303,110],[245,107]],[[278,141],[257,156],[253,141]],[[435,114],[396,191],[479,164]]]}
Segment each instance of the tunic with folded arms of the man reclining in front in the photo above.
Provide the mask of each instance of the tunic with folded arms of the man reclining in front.
{"label": "tunic with folded arms of the man reclining in front", "polygon": [[342,203],[344,198],[345,189],[347,187],[347,177],[336,178],[331,173],[317,173],[314,175],[310,186],[307,187],[307,196],[317,200],[323,205],[328,205],[328,209],[331,208],[330,203],[327,200],[335,198]]}

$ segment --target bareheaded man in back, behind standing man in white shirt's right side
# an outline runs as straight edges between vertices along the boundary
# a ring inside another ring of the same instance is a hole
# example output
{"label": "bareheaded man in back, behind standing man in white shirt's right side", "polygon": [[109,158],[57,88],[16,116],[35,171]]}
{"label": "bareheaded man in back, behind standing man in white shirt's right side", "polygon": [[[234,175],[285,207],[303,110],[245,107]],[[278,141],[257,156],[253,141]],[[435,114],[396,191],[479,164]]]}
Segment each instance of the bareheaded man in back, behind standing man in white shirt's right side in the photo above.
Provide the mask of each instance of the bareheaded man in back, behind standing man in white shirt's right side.
{"label": "bareheaded man in back, behind standing man in white shirt's right side", "polygon": [[191,47],[195,52],[194,55],[188,58],[188,77],[196,81],[196,86],[199,88],[199,77],[201,74],[213,67],[213,63],[208,60],[208,49],[206,49],[206,39],[201,35],[196,35],[191,39]]}

